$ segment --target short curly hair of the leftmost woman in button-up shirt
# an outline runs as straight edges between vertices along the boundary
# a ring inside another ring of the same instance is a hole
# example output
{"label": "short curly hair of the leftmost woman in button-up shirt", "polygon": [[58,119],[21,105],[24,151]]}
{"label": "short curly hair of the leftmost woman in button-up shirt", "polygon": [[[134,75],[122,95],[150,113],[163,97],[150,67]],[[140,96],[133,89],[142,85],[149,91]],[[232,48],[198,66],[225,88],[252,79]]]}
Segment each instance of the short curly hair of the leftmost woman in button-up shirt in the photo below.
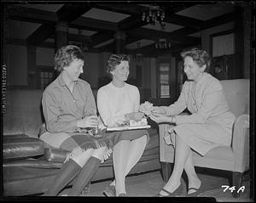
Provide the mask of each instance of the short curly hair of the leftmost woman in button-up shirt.
{"label": "short curly hair of the leftmost woman in button-up shirt", "polygon": [[84,60],[82,50],[75,45],[61,47],[55,54],[55,70],[62,71],[64,67],[70,65],[74,59]]}

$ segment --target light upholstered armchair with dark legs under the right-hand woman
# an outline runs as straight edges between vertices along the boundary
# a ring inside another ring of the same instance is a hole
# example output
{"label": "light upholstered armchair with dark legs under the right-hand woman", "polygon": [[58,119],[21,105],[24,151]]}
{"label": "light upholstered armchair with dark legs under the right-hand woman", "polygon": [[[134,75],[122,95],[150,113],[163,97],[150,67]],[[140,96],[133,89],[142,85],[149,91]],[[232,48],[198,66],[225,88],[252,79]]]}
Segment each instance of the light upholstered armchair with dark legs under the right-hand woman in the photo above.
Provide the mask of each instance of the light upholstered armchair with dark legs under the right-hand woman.
{"label": "light upholstered armchair with dark legs under the right-hand woman", "polygon": [[[241,193],[236,191],[241,187],[242,174],[249,169],[249,80],[224,80],[221,83],[226,99],[230,104],[230,110],[236,116],[231,146],[212,149],[205,156],[193,151],[193,161],[195,166],[232,172],[230,185],[236,187],[232,194],[238,197]],[[174,160],[173,146],[167,145],[163,138],[169,127],[168,124],[160,124],[159,126],[160,162],[165,182],[171,175],[171,163]]]}

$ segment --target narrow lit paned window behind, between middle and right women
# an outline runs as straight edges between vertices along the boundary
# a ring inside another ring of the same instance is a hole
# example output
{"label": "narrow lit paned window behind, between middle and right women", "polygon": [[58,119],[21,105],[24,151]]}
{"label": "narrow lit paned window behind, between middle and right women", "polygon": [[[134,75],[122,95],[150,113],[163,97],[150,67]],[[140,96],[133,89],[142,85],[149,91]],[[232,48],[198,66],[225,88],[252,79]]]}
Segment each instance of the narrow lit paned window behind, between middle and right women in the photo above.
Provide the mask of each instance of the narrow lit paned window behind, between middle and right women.
{"label": "narrow lit paned window behind, between middle and right women", "polygon": [[160,98],[170,98],[170,64],[160,64]]}

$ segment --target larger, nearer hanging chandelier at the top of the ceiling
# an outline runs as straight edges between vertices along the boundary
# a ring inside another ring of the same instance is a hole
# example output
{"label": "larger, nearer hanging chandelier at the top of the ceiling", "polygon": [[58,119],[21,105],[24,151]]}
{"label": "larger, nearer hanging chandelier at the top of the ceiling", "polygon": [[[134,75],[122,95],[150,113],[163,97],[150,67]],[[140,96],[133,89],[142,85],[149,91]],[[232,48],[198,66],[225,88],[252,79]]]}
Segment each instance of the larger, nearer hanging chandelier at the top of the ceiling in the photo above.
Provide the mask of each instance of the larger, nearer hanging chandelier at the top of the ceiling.
{"label": "larger, nearer hanging chandelier at the top of the ceiling", "polygon": [[163,8],[156,5],[150,5],[148,10],[143,11],[142,20],[150,25],[155,25],[156,21],[159,20],[160,25],[162,25],[165,17],[166,14]]}

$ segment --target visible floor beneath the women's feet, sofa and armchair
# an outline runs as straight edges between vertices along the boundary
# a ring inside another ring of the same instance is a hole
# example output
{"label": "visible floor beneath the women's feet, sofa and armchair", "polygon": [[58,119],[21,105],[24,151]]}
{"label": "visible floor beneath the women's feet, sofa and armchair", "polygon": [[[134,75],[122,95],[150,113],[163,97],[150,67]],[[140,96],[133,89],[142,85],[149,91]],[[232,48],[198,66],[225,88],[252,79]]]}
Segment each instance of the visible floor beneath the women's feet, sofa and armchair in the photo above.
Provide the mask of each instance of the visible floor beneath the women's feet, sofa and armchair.
{"label": "visible floor beneath the women's feet, sofa and armchair", "polygon": [[[209,172],[208,172],[209,173]],[[210,172],[211,175],[206,174],[204,171],[198,172],[199,178],[203,183],[203,193],[201,193],[202,197],[214,197],[216,201],[241,201],[241,202],[249,202],[253,201],[252,197],[250,198],[250,185],[248,175],[245,176],[242,184],[245,186],[245,190],[241,193],[241,197],[234,198],[230,190],[227,189],[224,192],[224,188],[222,185],[230,185],[228,175],[224,172]],[[184,180],[186,182],[186,177]],[[99,183],[91,183],[90,184],[90,192],[85,196],[93,196],[93,197],[104,197],[102,191],[105,189],[108,184],[111,183],[111,180],[102,181]],[[160,171],[147,172],[143,174],[138,174],[134,176],[130,176],[126,178],[126,192],[130,197],[154,197],[160,189],[164,186],[163,180],[160,175]],[[61,195],[67,194],[68,189],[64,189],[61,192]],[[106,197],[108,198],[108,197]],[[109,199],[109,198],[108,198]]]}

